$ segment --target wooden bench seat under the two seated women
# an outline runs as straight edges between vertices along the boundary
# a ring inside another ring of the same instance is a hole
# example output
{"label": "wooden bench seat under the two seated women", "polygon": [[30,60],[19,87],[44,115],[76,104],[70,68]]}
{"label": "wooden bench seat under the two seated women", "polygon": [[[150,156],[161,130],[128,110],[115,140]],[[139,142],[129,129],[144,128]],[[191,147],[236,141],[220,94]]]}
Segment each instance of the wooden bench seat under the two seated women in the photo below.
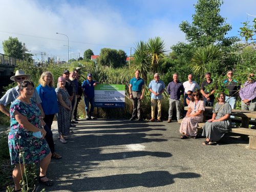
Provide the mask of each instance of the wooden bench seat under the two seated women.
{"label": "wooden bench seat under the two seated women", "polygon": [[[179,119],[178,123],[181,123],[181,122],[182,122],[182,119]],[[197,129],[202,129],[204,124],[205,122],[198,123]],[[234,127],[231,129],[230,132],[249,136],[249,148],[256,150],[256,130],[252,130],[244,127],[238,127],[238,128]]]}

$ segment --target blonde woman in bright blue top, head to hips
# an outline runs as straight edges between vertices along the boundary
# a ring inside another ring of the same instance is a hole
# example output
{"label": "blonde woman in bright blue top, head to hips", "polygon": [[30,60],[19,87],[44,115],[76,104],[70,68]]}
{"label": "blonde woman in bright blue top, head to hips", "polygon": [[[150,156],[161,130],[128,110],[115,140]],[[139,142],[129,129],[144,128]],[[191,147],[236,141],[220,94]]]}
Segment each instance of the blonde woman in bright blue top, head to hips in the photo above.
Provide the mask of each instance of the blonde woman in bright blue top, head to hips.
{"label": "blonde woman in bright blue top, head to hips", "polygon": [[42,109],[45,112],[44,121],[51,130],[55,113],[58,113],[58,101],[53,87],[53,75],[47,71],[41,74],[39,86],[36,88],[41,100]]}

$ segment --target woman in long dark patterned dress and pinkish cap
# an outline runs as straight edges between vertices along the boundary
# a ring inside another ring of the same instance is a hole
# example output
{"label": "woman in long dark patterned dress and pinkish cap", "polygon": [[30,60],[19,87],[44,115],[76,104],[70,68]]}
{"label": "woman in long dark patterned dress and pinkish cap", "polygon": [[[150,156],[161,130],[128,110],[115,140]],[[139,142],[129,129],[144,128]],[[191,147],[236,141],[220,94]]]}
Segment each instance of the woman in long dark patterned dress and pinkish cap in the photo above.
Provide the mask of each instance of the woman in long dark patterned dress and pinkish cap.
{"label": "woman in long dark patterned dress and pinkish cap", "polygon": [[72,105],[69,100],[69,93],[65,88],[66,79],[64,77],[58,78],[58,87],[55,89],[58,98],[58,132],[59,140],[62,143],[67,143],[65,136],[70,134],[70,122]]}

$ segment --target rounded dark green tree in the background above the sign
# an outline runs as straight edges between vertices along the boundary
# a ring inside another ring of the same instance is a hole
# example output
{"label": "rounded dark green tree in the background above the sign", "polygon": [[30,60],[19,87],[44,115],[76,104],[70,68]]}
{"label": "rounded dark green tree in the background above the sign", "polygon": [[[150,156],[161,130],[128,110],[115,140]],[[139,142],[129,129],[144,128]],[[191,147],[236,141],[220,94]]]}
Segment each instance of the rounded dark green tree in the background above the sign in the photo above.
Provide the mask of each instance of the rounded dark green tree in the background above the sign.
{"label": "rounded dark green tree in the background above the sign", "polygon": [[103,48],[100,50],[98,65],[112,68],[123,67],[126,65],[126,57],[127,55],[123,50]]}

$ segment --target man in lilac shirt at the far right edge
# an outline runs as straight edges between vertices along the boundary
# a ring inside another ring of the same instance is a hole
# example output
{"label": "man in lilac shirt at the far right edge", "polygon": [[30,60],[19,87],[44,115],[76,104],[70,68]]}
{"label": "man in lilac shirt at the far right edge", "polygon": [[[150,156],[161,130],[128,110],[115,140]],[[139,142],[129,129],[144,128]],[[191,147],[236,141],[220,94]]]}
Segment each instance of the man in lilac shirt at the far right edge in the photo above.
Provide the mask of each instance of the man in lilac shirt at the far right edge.
{"label": "man in lilac shirt at the far right edge", "polygon": [[242,102],[242,110],[255,111],[256,109],[256,79],[254,74],[248,76],[248,80],[244,83],[239,93]]}

